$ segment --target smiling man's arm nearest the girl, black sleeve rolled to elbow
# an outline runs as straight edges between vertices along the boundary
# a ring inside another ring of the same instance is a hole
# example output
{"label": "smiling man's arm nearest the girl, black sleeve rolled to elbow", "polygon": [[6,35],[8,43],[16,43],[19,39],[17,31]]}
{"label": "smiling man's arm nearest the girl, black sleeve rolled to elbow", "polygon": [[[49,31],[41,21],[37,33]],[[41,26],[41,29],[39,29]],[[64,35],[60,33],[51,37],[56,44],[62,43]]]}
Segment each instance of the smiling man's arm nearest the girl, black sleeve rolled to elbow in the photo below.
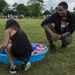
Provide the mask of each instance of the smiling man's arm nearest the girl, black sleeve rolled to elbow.
{"label": "smiling man's arm nearest the girl, black sleeve rolled to elbow", "polygon": [[57,19],[58,17],[58,13],[54,13],[51,17],[49,17],[48,19],[45,19],[41,26],[43,26],[43,28],[49,32],[49,34],[52,36],[52,40],[53,41],[57,41],[61,38],[61,35],[58,35],[56,33],[54,33],[48,26],[47,24],[49,23],[55,23],[55,20]]}

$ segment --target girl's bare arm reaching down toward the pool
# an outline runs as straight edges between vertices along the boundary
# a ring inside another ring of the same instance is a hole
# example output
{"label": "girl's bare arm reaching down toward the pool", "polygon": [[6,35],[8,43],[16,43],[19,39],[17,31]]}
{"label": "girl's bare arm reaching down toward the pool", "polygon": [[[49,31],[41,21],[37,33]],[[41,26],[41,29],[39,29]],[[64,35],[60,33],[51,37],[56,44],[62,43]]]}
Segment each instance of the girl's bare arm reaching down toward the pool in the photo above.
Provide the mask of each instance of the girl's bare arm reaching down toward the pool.
{"label": "girl's bare arm reaching down toward the pool", "polygon": [[0,51],[4,50],[7,48],[8,43],[9,43],[10,35],[9,35],[9,30],[5,31],[5,37],[4,37],[4,43],[0,47]]}

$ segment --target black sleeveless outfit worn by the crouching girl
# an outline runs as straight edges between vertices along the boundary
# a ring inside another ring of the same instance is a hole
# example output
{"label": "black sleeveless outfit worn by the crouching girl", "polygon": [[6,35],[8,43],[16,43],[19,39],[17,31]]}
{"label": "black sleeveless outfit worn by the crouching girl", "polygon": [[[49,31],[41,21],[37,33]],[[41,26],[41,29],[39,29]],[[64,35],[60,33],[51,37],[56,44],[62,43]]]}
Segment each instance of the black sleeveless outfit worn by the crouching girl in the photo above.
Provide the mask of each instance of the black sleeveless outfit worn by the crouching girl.
{"label": "black sleeveless outfit worn by the crouching girl", "polygon": [[12,42],[10,51],[13,56],[25,58],[31,55],[32,46],[24,32],[22,34],[16,32],[10,39]]}

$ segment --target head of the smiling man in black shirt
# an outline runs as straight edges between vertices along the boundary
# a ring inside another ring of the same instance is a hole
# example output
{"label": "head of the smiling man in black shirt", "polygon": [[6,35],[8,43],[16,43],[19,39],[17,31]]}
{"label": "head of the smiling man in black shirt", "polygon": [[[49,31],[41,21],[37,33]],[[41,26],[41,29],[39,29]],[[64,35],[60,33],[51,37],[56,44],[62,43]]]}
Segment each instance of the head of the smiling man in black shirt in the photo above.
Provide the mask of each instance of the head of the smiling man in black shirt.
{"label": "head of the smiling man in black shirt", "polygon": [[68,4],[66,2],[61,2],[58,4],[57,9],[60,16],[66,16],[68,11]]}

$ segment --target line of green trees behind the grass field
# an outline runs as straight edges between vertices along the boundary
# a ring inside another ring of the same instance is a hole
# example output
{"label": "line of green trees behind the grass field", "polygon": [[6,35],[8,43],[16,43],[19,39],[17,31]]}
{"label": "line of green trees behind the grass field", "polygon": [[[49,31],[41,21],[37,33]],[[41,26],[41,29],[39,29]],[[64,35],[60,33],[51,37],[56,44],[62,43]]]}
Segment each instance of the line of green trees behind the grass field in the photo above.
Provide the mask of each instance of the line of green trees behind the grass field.
{"label": "line of green trees behind the grass field", "polygon": [[[21,15],[24,16],[34,16],[39,17],[42,15],[53,14],[57,10],[57,7],[50,10],[44,8],[44,0],[28,0],[27,5],[14,3],[9,5],[5,0],[0,0],[0,15]],[[44,12],[43,12],[44,11]],[[73,13],[75,13],[75,7],[73,8]]]}

